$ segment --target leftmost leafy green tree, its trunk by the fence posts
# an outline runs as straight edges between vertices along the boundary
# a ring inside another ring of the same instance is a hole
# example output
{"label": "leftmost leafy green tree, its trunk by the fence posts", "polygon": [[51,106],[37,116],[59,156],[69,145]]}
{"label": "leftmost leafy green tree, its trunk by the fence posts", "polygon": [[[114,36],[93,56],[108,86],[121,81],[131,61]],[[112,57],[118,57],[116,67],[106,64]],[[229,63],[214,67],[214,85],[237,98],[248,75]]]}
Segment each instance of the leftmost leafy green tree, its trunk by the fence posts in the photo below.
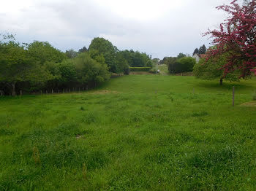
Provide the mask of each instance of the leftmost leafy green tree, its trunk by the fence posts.
{"label": "leftmost leafy green tree, its trunk by the fence posts", "polygon": [[53,75],[45,69],[43,63],[53,59],[61,61],[64,55],[50,47],[48,43],[33,42],[25,47],[15,42],[13,36],[10,40],[0,41],[0,82],[11,87],[15,95],[15,85],[18,82],[31,84],[43,83],[53,79]]}

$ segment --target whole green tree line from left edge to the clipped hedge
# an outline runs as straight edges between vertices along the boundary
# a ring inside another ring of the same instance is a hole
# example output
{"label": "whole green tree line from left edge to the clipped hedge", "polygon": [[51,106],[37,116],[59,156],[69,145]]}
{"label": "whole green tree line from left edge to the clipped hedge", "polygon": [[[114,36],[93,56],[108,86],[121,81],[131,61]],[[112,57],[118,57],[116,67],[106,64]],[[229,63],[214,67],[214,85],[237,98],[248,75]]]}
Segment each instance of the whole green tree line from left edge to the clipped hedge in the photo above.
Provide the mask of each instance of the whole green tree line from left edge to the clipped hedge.
{"label": "whole green tree line from left edge to the clipped hedge", "polygon": [[0,40],[0,90],[6,95],[95,87],[129,66],[152,66],[146,53],[123,50],[94,38],[89,48],[61,52],[49,42],[19,43],[11,34]]}

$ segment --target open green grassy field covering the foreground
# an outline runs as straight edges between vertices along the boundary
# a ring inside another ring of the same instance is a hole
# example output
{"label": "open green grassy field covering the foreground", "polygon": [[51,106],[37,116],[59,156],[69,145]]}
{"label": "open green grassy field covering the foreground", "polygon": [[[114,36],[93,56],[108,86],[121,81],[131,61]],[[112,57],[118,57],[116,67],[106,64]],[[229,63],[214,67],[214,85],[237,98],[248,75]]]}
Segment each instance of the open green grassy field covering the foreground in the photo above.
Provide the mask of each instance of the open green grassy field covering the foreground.
{"label": "open green grassy field covering the foreground", "polygon": [[256,190],[254,90],[135,75],[0,98],[0,190]]}

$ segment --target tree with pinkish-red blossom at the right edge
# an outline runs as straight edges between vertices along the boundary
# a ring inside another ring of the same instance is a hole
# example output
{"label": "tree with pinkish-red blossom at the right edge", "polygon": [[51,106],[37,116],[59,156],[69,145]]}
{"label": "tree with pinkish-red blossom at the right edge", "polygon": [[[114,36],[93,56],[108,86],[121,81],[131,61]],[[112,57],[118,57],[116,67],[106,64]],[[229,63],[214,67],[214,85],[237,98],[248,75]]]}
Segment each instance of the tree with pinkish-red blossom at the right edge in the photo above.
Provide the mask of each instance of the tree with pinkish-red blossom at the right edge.
{"label": "tree with pinkish-red blossom at the right edge", "polygon": [[230,5],[217,7],[230,16],[220,24],[219,30],[209,30],[204,35],[211,35],[214,48],[206,52],[206,61],[227,55],[224,66],[225,75],[238,71],[246,77],[256,74],[256,0],[247,1],[240,5],[237,0]]}

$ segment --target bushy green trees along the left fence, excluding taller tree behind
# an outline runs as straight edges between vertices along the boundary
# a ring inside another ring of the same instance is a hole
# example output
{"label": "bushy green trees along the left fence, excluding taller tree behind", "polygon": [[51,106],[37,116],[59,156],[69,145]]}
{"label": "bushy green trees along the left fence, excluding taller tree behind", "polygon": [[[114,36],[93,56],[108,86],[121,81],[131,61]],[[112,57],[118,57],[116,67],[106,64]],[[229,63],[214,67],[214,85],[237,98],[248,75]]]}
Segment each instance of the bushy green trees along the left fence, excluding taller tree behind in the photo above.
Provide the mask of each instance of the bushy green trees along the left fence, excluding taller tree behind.
{"label": "bushy green trees along the left fence, excluding taller tree behind", "polygon": [[78,55],[74,50],[65,54],[48,42],[20,44],[13,36],[4,37],[0,42],[0,90],[5,87],[5,93],[10,89],[15,95],[22,91],[95,87],[110,78],[102,55],[94,58],[88,52]]}

